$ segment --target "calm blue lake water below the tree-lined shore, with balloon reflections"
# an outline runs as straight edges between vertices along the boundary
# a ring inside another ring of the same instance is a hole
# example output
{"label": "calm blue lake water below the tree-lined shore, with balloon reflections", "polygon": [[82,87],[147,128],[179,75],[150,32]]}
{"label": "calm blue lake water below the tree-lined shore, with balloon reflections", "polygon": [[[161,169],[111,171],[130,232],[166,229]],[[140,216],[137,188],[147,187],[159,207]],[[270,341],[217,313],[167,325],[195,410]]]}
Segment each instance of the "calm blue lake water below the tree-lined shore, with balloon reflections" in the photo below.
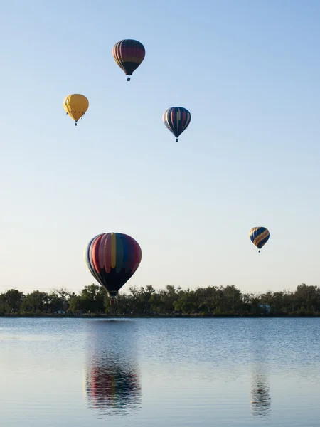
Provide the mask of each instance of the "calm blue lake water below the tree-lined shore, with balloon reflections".
{"label": "calm blue lake water below the tree-lined shore, with balloon reflections", "polygon": [[320,425],[320,319],[0,319],[0,425]]}

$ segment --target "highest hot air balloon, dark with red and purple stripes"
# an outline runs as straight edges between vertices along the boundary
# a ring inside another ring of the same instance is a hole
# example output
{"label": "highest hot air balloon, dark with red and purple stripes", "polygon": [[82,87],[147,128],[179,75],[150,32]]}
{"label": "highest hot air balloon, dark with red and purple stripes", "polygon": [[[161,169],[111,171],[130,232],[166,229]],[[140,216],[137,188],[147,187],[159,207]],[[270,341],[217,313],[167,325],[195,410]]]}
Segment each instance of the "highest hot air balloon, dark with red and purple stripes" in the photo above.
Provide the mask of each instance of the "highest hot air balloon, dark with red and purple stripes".
{"label": "highest hot air balloon, dark with red and purple stripes", "polygon": [[[126,75],[132,75],[144,60],[146,51],[144,45],[137,40],[126,38],[115,43],[112,49],[112,55],[119,67],[124,70]],[[130,78],[127,78],[130,81]]]}

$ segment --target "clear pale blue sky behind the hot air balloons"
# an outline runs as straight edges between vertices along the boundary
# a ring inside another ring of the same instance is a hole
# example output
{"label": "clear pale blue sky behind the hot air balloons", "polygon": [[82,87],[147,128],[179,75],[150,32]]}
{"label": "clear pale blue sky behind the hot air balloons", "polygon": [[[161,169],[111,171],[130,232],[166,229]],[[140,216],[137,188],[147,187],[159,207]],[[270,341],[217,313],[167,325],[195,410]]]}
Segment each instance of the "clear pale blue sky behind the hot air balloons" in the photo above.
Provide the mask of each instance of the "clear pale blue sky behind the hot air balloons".
{"label": "clear pale blue sky behind the hot air balloons", "polygon": [[[123,290],[319,285],[319,20],[316,0],[4,2],[0,292],[80,290],[107,231],[142,247]],[[122,38],[146,48],[130,83]],[[78,127],[70,93],[90,101]]]}

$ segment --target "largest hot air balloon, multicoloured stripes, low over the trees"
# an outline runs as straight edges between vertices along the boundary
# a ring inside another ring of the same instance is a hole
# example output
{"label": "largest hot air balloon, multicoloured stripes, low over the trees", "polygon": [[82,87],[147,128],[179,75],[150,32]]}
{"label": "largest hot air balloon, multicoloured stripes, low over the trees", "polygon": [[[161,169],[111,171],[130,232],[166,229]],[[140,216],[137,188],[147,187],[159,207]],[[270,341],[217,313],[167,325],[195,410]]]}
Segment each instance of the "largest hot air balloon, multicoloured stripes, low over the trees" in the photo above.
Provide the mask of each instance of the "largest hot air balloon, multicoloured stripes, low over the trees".
{"label": "largest hot air balloon, multicoloured stripes, low over the trees", "polygon": [[85,248],[87,268],[112,300],[137,270],[141,258],[139,243],[122,233],[98,234]]}

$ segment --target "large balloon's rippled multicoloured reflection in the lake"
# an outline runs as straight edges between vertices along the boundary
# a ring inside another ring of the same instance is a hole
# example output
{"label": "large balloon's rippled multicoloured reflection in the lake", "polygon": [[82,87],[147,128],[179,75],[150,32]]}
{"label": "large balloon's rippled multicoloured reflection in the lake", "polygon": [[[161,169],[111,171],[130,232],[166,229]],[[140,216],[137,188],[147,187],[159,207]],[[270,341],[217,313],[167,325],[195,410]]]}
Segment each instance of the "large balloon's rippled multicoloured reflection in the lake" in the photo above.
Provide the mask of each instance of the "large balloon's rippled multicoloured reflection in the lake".
{"label": "large balloon's rippled multicoloured reflection in the lake", "polygon": [[85,367],[88,407],[105,416],[129,415],[142,400],[134,322],[91,323]]}

